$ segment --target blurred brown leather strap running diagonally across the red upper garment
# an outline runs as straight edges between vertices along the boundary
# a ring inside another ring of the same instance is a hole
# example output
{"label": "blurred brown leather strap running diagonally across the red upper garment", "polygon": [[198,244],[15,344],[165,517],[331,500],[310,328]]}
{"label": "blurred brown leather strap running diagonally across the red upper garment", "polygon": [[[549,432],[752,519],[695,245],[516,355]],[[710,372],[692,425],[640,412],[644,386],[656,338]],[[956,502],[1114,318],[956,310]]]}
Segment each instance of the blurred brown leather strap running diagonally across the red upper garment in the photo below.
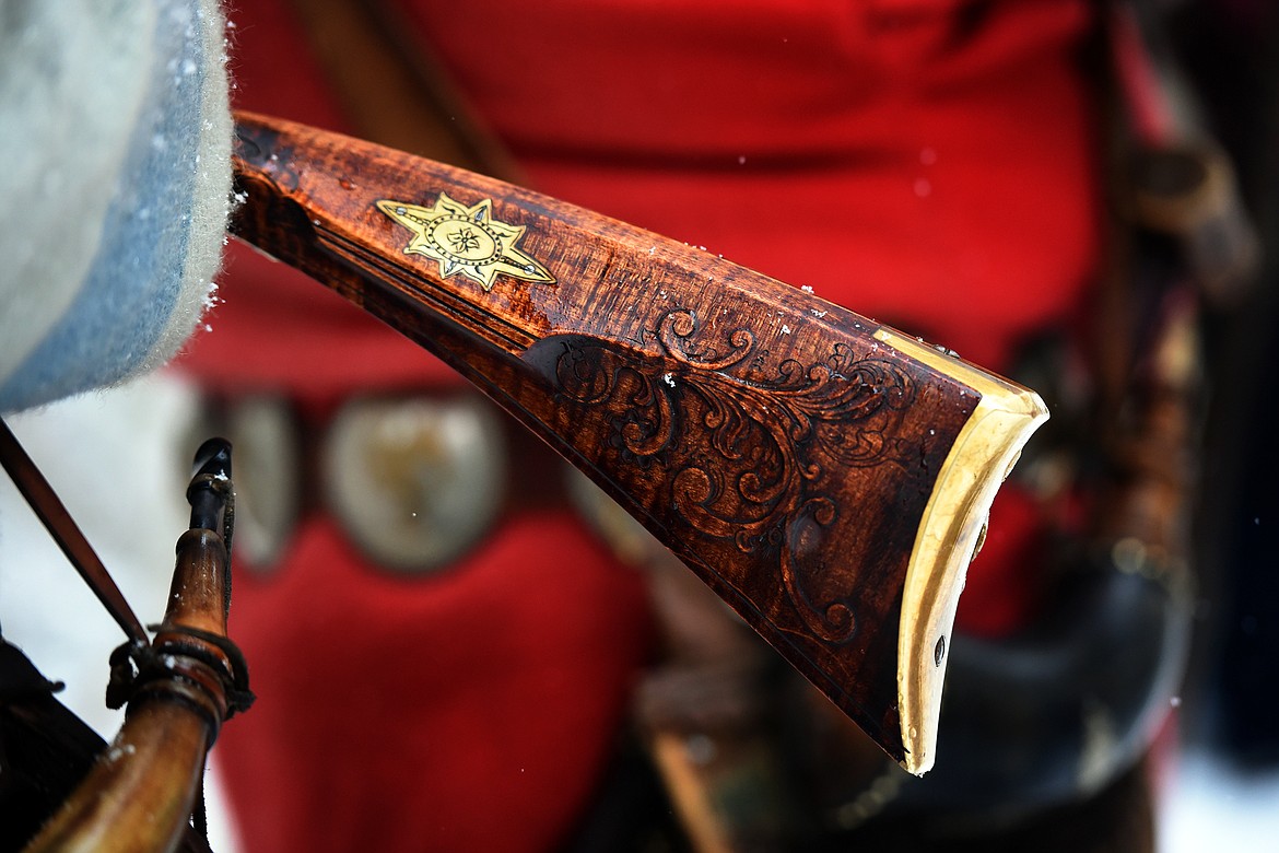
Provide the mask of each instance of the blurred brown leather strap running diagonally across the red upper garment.
{"label": "blurred brown leather strap running diagonally across the red upper garment", "polygon": [[385,0],[293,0],[353,130],[372,142],[523,184],[428,46]]}

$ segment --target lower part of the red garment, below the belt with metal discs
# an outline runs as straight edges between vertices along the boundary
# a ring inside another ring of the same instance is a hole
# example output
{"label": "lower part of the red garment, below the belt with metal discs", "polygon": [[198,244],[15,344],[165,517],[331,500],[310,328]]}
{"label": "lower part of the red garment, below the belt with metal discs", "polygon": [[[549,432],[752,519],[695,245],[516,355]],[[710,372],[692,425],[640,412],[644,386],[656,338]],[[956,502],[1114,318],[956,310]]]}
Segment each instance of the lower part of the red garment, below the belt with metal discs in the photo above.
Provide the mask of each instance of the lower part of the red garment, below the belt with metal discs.
{"label": "lower part of the red garment, below the belt with metal discs", "polygon": [[563,515],[512,519],[428,578],[312,518],[267,579],[237,574],[258,701],[215,756],[246,849],[553,848],[615,743],[643,602]]}

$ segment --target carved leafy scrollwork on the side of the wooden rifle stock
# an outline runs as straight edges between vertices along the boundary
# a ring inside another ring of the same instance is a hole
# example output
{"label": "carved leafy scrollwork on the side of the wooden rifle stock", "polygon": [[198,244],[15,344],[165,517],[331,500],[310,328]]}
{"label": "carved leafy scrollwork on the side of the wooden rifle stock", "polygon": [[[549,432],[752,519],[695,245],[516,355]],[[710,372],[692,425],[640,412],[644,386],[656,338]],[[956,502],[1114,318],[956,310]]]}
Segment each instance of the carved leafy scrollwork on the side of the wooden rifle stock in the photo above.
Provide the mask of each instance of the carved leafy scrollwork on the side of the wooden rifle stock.
{"label": "carved leafy scrollwork on the side of the wooden rifle stock", "polygon": [[830,642],[845,642],[856,619],[839,600],[815,601],[810,582],[830,555],[844,513],[842,472],[906,464],[895,437],[914,395],[888,358],[836,344],[824,361],[783,359],[771,368],[746,329],[712,336],[692,311],[664,315],[660,356],[597,339],[564,343],[558,393],[605,413],[606,453],[642,477],[669,474],[661,505],[703,536],[744,552],[776,550],[781,584],[801,619]]}

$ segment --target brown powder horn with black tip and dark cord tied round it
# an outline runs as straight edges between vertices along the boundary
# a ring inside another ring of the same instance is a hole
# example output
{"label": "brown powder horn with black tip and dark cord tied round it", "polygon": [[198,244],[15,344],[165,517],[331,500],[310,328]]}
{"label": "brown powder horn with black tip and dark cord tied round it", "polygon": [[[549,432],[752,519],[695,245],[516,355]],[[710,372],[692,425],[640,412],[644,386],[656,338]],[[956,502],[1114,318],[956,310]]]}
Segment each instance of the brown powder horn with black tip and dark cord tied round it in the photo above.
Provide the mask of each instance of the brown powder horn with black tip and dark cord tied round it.
{"label": "brown powder horn with black tip and dark cord tied round it", "polygon": [[[230,446],[205,442],[197,467],[165,623],[150,647],[134,646],[132,662],[120,661],[138,669],[128,679],[124,725],[27,853],[161,853],[184,841],[207,849],[189,822],[205,758],[223,720],[251,698],[243,661],[226,641]],[[235,683],[244,684],[242,696],[229,689]]]}

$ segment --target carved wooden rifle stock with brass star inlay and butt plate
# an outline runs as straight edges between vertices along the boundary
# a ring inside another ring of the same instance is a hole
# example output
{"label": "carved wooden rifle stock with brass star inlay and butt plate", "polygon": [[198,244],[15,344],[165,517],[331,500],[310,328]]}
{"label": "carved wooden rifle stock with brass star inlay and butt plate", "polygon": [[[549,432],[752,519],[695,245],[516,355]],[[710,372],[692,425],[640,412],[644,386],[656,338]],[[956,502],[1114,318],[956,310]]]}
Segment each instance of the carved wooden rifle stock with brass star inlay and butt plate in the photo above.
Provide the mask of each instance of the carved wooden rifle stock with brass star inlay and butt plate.
{"label": "carved wooden rifle stock with brass star inlay and butt plate", "polygon": [[894,758],[931,766],[963,575],[1048,417],[1033,393],[616,220],[237,119],[240,238],[457,368]]}

